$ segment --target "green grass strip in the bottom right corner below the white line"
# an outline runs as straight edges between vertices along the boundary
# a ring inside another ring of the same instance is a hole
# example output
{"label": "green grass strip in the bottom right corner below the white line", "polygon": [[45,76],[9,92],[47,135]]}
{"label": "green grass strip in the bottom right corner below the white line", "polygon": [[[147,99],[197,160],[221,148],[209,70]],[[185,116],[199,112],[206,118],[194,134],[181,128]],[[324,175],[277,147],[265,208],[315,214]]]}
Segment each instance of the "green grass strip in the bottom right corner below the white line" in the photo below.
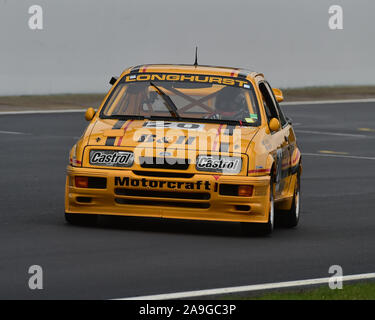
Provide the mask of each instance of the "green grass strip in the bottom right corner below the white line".
{"label": "green grass strip in the bottom right corner below the white line", "polygon": [[345,284],[343,289],[332,290],[328,285],[310,288],[273,291],[249,296],[226,296],[229,300],[375,300],[375,282]]}

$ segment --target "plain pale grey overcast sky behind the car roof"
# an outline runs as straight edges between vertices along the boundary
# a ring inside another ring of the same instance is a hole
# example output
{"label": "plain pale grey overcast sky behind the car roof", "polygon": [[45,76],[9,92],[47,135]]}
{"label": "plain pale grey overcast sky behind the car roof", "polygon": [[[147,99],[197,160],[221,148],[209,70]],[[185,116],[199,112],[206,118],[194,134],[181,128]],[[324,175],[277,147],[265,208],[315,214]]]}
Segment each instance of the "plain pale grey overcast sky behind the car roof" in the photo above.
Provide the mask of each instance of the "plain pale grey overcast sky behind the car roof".
{"label": "plain pale grey overcast sky behind the car roof", "polygon": [[[28,9],[43,8],[43,30]],[[331,5],[343,30],[328,28]],[[265,73],[274,87],[375,84],[373,0],[0,0],[0,95],[107,91],[144,63]]]}

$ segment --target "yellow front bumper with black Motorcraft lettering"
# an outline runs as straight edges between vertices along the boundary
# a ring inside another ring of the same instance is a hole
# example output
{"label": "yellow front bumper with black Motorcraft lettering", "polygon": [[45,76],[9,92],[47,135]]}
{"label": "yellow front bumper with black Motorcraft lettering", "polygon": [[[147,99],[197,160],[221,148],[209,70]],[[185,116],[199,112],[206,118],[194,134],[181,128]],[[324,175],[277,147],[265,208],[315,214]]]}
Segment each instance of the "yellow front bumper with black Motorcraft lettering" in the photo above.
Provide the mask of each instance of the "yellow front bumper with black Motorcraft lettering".
{"label": "yellow front bumper with black Motorcraft lettering", "polygon": [[[73,182],[75,176],[104,177],[106,188],[77,188]],[[65,212],[265,223],[269,212],[269,181],[269,176],[156,177],[131,170],[68,166]],[[221,184],[252,185],[253,194],[251,197],[221,195]],[[186,189],[188,185],[194,188]],[[122,190],[126,190],[126,195]]]}

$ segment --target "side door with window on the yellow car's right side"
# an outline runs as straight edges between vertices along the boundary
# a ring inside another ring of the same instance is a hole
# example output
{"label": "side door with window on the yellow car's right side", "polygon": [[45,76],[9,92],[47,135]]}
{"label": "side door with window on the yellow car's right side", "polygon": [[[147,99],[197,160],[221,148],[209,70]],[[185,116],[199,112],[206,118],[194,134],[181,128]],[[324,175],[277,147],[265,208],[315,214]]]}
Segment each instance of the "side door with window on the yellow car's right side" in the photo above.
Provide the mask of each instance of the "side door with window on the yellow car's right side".
{"label": "side door with window on the yellow car's right side", "polygon": [[259,83],[259,89],[263,95],[268,121],[270,121],[271,118],[277,118],[280,122],[280,130],[271,133],[276,164],[275,198],[278,199],[288,192],[290,184],[290,124],[286,121],[284,114],[281,112],[271,86],[266,81],[262,81]]}

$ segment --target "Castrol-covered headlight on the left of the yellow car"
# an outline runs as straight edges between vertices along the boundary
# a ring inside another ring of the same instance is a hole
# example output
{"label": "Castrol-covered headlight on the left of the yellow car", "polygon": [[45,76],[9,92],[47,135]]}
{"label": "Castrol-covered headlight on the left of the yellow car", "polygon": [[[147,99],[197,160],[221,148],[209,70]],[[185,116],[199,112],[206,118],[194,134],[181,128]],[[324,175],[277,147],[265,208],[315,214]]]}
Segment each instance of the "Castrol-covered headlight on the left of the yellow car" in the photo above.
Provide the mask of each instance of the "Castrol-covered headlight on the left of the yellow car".
{"label": "Castrol-covered headlight on the left of the yellow car", "polygon": [[133,152],[117,150],[91,150],[90,164],[107,167],[131,167],[134,162]]}

